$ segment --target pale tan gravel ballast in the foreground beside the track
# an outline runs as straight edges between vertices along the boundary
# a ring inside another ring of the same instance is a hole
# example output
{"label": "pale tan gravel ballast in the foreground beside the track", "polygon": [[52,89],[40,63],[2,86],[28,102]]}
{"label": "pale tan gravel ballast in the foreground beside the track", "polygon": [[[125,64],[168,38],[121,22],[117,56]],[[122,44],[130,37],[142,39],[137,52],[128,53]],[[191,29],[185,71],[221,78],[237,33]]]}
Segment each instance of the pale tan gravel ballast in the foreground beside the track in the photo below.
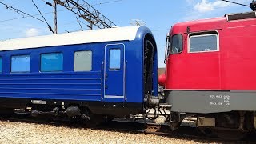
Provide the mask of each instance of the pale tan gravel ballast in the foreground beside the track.
{"label": "pale tan gravel ballast in the foreground beside the track", "polygon": [[154,134],[0,121],[0,143],[209,143]]}

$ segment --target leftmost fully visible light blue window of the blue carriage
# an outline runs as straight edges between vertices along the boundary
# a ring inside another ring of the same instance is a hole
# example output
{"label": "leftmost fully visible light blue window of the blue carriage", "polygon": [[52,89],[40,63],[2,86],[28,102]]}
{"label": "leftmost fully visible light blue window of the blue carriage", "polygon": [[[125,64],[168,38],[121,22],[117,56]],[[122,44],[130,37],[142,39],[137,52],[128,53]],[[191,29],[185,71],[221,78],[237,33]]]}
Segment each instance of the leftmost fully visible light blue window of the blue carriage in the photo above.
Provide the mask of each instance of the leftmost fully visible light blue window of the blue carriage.
{"label": "leftmost fully visible light blue window of the blue carriage", "polygon": [[30,72],[30,55],[12,56],[11,72]]}

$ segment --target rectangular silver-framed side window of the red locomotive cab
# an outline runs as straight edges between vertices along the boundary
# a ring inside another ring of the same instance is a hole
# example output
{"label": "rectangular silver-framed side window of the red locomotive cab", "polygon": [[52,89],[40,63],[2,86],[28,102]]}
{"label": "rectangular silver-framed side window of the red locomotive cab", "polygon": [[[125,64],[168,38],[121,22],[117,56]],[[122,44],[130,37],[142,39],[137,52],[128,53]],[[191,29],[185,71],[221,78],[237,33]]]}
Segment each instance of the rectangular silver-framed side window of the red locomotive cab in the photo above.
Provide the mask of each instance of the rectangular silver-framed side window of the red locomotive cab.
{"label": "rectangular silver-framed side window of the red locomotive cab", "polygon": [[207,51],[218,51],[217,34],[201,34],[190,36],[190,53]]}

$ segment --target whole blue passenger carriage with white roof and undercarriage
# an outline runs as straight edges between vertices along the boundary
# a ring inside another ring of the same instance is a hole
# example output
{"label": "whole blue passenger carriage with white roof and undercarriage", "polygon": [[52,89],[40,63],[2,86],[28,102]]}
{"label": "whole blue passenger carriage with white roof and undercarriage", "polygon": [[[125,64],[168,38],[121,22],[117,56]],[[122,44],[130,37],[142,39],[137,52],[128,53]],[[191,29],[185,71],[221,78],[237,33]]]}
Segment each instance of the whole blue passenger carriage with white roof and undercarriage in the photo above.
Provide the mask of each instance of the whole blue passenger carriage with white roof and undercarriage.
{"label": "whole blue passenger carriage with white roof and undercarriage", "polygon": [[140,114],[157,90],[157,46],[130,26],[0,42],[0,111]]}

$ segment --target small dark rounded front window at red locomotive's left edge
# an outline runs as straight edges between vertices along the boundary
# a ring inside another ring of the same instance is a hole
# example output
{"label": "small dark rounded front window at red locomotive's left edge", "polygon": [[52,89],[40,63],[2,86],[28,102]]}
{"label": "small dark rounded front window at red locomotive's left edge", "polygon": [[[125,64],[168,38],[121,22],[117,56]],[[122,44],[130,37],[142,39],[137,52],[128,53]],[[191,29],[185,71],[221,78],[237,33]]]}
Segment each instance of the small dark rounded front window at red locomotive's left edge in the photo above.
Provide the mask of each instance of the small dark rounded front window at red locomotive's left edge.
{"label": "small dark rounded front window at red locomotive's left edge", "polygon": [[183,50],[182,34],[176,34],[170,39],[170,54],[178,54]]}

